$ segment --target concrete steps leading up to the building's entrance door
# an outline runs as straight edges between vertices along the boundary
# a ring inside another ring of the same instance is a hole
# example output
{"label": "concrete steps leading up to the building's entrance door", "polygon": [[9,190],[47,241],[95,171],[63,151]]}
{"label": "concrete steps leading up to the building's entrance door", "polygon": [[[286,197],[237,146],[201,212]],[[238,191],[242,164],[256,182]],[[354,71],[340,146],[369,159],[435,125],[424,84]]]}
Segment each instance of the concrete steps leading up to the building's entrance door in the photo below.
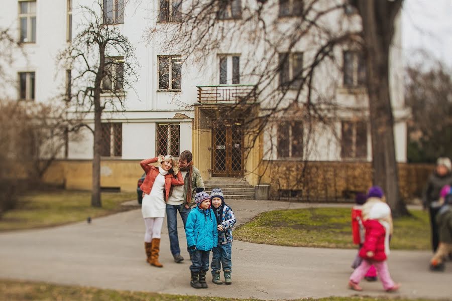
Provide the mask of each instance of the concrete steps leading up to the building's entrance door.
{"label": "concrete steps leading up to the building's entrance door", "polygon": [[210,178],[204,186],[209,194],[213,188],[221,188],[226,200],[254,200],[254,186],[243,178]]}

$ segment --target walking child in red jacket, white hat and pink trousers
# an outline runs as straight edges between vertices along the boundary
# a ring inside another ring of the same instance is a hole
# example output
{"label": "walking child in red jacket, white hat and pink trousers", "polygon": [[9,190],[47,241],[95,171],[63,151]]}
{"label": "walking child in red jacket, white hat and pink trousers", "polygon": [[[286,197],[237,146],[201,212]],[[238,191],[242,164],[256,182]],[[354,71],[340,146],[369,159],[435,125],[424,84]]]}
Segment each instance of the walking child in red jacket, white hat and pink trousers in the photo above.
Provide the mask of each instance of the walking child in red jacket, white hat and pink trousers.
{"label": "walking child in red jacket, white hat and pink trousers", "polygon": [[390,225],[387,218],[390,216],[389,206],[383,202],[376,203],[369,211],[368,219],[364,221],[366,235],[363,247],[360,249],[360,257],[363,258],[360,266],[350,276],[349,287],[354,290],[362,290],[359,286],[369,267],[374,265],[380,275],[380,280],[386,291],[396,291],[400,284],[394,283],[389,274],[386,263],[389,254]]}

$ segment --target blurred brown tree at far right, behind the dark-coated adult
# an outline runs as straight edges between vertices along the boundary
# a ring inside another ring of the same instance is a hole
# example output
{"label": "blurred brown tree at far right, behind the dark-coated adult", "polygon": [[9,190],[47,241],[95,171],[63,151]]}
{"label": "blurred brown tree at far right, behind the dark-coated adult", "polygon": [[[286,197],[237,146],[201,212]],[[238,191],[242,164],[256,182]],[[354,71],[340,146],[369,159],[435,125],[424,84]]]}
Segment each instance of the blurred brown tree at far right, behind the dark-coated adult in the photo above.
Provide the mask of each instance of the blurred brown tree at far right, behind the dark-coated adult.
{"label": "blurred brown tree at far right, behind the dark-coated adult", "polygon": [[408,126],[408,160],[434,163],[452,157],[452,70],[440,62],[406,68],[406,99],[412,120]]}

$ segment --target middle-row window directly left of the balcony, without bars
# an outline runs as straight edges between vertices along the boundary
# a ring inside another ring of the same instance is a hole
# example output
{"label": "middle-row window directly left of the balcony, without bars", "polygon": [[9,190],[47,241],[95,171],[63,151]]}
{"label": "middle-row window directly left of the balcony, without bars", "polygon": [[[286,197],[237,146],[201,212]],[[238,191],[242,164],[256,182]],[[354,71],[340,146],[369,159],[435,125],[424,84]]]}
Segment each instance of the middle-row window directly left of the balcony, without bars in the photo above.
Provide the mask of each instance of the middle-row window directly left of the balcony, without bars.
{"label": "middle-row window directly left of the balcony, without bars", "polygon": [[180,90],[182,87],[182,58],[159,56],[159,90]]}

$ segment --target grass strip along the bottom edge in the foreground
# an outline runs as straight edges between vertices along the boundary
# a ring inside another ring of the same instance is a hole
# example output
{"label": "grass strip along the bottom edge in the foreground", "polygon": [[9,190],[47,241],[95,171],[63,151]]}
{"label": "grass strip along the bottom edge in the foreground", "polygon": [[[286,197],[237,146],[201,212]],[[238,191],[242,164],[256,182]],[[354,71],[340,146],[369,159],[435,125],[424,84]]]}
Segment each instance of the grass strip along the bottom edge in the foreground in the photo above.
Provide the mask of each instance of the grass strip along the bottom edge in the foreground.
{"label": "grass strip along the bottom edge in the foreground", "polygon": [[[105,300],[105,301],[227,301],[227,300],[248,300],[260,301],[260,299],[237,299],[237,298],[221,298],[221,297],[202,297],[193,295],[170,295],[159,294],[154,292],[142,291],[125,291],[100,289],[83,286],[57,285],[43,282],[28,282],[15,280],[0,279],[0,299],[11,301],[25,300]],[[406,298],[386,298],[386,297],[327,297],[327,298],[304,298],[299,299],[306,301],[378,301],[378,300],[398,300],[398,301],[428,301],[429,299],[406,299]]]}

